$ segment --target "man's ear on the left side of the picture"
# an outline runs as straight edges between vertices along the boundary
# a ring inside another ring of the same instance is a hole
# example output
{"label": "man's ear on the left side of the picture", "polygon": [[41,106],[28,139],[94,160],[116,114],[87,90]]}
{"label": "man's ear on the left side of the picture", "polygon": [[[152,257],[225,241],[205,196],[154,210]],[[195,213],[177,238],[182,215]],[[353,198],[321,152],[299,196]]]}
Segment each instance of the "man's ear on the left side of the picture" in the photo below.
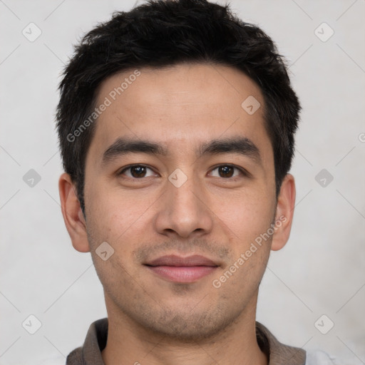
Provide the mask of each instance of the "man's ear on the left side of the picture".
{"label": "man's ear on the left side of the picture", "polygon": [[63,173],[58,180],[63,220],[71,237],[72,245],[79,252],[89,252],[86,221],[76,195],[71,176]]}

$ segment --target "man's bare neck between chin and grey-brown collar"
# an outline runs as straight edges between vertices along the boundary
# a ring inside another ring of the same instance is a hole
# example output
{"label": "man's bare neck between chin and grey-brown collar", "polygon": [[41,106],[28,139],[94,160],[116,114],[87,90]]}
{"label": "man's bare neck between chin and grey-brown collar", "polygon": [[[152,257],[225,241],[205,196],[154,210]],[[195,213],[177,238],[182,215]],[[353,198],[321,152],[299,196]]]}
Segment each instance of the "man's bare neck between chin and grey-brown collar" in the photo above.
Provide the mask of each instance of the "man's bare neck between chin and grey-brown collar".
{"label": "man's bare neck between chin and grey-brown collar", "polygon": [[107,297],[106,304],[108,341],[102,351],[106,365],[268,364],[256,339],[256,300],[224,330],[199,341],[183,341],[155,333],[118,312]]}

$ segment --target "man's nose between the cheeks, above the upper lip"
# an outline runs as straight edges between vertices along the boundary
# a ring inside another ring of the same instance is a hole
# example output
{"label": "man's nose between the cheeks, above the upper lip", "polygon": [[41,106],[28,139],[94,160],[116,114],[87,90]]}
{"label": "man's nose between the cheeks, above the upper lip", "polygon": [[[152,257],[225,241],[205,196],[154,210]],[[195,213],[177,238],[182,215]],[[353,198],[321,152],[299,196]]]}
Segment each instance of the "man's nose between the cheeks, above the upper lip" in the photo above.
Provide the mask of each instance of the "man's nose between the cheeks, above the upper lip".
{"label": "man's nose between the cheeks, above the upper lip", "polygon": [[181,186],[173,179],[167,181],[155,218],[155,229],[160,234],[171,238],[192,238],[212,230],[214,214],[201,185],[191,177]]}

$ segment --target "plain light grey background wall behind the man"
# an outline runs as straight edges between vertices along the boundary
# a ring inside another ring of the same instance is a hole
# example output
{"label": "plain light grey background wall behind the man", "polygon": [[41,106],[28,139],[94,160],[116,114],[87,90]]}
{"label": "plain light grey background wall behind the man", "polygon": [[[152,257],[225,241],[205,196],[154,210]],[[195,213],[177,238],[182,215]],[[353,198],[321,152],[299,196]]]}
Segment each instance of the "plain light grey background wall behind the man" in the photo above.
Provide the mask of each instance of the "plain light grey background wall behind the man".
{"label": "plain light grey background wall behind the man", "polygon": [[[62,358],[106,317],[91,255],[73,250],[63,224],[54,111],[72,44],[133,4],[0,1],[1,365]],[[292,235],[272,252],[257,320],[284,343],[327,351],[334,364],[365,364],[365,1],[231,4],[287,56],[303,106]],[[34,42],[22,34],[31,22],[42,31]],[[323,22],[334,30],[326,42],[314,34]],[[30,169],[41,175],[34,187],[23,180]],[[322,169],[334,178],[326,187],[315,180]],[[21,325],[30,314],[42,324],[33,335]],[[323,314],[334,322],[327,334],[314,325]]]}

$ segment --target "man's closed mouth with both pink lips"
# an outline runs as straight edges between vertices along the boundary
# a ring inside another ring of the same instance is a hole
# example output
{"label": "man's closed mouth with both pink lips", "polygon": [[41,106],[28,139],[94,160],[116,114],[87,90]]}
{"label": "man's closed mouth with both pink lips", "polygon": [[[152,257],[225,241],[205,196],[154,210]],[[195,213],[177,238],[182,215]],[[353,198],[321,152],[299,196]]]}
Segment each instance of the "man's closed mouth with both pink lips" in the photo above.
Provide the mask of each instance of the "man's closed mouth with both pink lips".
{"label": "man's closed mouth with both pink lips", "polygon": [[207,257],[193,255],[180,257],[175,255],[158,257],[145,266],[154,274],[170,282],[191,283],[206,277],[220,267]]}

